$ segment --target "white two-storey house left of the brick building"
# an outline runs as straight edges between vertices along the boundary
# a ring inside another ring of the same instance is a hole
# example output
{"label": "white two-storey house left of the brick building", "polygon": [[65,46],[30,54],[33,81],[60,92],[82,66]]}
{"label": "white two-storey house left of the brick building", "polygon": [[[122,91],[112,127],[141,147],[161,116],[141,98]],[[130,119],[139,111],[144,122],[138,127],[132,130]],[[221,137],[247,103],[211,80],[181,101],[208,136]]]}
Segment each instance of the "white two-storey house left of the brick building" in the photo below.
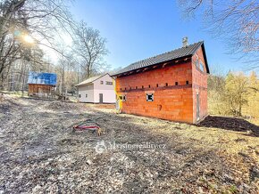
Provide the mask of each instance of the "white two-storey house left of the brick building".
{"label": "white two-storey house left of the brick building", "polygon": [[79,89],[80,102],[115,103],[116,101],[113,77],[109,74],[90,77],[76,86]]}

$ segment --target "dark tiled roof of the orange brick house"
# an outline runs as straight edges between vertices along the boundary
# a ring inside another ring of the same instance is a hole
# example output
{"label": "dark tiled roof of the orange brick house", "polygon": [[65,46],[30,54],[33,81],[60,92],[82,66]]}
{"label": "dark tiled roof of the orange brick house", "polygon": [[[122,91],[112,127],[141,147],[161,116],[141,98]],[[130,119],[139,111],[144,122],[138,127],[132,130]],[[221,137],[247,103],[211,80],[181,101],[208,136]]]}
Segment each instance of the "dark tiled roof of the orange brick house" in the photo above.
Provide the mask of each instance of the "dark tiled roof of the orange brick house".
{"label": "dark tiled roof of the orange brick house", "polygon": [[[204,55],[205,55],[204,42],[200,41],[198,43],[190,44],[190,45],[188,45],[186,47],[181,47],[179,49],[173,50],[173,51],[168,52],[168,53],[159,54],[159,55],[157,55],[155,57],[151,57],[151,58],[148,58],[146,60],[134,62],[134,63],[130,64],[128,67],[119,70],[118,72],[113,74],[113,76],[118,76],[118,75],[120,75],[122,73],[126,73],[126,72],[129,72],[131,70],[146,68],[148,66],[159,64],[161,62],[177,60],[177,59],[180,59],[182,57],[192,56],[194,53],[196,53],[196,50],[200,46],[203,47],[203,52],[204,52]],[[206,65],[206,67],[208,69],[207,61],[206,61],[206,56],[205,56],[205,63],[206,63],[205,65]],[[208,73],[209,73],[209,69],[208,69]]]}

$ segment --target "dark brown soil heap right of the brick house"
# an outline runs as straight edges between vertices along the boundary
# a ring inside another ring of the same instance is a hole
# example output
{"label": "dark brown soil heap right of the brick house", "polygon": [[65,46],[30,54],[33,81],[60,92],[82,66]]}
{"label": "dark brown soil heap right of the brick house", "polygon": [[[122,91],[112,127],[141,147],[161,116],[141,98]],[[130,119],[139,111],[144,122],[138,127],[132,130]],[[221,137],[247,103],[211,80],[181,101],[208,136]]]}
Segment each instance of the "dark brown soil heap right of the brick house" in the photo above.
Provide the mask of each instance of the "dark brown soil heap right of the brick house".
{"label": "dark brown soil heap right of the brick house", "polygon": [[237,117],[205,117],[197,126],[216,127],[237,132],[251,131],[252,135],[259,136],[259,126]]}

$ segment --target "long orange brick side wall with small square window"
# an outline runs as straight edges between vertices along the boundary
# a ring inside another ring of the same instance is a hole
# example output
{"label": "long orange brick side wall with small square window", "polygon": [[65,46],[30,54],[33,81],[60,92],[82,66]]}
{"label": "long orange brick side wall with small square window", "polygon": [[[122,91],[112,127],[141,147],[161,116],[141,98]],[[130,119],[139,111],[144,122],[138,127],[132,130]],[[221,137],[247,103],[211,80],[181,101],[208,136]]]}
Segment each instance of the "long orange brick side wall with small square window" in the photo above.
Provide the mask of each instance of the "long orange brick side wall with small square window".
{"label": "long orange brick side wall with small square window", "polygon": [[[183,63],[116,78],[117,94],[126,94],[121,112],[192,123],[191,61],[181,62]],[[175,82],[178,82],[177,86]],[[154,101],[146,101],[146,93],[154,93]]]}

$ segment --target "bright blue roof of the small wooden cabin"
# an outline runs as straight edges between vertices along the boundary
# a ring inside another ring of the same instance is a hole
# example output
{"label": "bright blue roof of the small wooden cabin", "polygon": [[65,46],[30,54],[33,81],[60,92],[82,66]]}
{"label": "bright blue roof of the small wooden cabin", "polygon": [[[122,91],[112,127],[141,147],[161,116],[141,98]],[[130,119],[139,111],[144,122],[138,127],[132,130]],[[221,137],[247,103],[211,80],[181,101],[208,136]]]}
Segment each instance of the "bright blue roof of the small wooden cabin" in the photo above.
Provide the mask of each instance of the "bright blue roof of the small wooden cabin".
{"label": "bright blue roof of the small wooden cabin", "polygon": [[28,84],[56,85],[56,74],[29,71]]}

